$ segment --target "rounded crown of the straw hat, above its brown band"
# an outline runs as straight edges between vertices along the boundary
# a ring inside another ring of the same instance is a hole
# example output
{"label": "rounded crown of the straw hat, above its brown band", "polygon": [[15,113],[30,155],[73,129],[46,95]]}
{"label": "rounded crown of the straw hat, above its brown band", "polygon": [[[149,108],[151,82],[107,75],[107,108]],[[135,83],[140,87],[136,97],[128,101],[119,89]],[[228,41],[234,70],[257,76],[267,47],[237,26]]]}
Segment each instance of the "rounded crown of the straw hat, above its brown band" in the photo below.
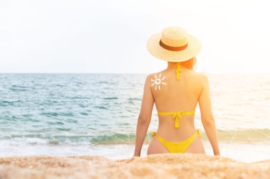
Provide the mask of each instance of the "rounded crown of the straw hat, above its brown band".
{"label": "rounded crown of the straw hat, above its brown band", "polygon": [[161,33],[161,41],[170,47],[182,47],[187,44],[187,33],[180,27],[167,27]]}

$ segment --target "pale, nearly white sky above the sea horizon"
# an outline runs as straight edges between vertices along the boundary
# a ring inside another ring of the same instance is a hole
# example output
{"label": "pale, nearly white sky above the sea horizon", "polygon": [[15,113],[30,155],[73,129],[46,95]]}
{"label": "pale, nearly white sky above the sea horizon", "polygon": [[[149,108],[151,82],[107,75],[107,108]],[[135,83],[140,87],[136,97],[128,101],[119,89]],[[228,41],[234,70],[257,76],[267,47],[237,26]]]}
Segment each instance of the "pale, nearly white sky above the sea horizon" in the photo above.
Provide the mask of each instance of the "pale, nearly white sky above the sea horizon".
{"label": "pale, nearly white sky above the sea horizon", "polygon": [[0,73],[154,73],[146,41],[180,26],[202,43],[197,72],[270,73],[263,0],[1,0]]}

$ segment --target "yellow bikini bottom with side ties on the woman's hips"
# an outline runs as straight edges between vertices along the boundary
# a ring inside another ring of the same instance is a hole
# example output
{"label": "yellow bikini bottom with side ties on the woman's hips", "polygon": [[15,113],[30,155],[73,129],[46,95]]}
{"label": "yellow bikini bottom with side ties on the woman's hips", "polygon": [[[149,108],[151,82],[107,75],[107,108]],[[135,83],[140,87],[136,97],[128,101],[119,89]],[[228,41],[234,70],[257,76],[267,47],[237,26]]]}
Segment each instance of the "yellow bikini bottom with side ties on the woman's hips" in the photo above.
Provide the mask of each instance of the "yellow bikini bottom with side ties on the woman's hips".
{"label": "yellow bikini bottom with side ties on the woman's hips", "polygon": [[196,130],[194,135],[190,136],[188,139],[182,142],[170,142],[164,140],[162,137],[158,135],[156,131],[153,131],[152,137],[157,136],[161,144],[170,152],[170,153],[184,153],[189,145],[194,141],[196,135],[201,138],[201,134],[199,129]]}

